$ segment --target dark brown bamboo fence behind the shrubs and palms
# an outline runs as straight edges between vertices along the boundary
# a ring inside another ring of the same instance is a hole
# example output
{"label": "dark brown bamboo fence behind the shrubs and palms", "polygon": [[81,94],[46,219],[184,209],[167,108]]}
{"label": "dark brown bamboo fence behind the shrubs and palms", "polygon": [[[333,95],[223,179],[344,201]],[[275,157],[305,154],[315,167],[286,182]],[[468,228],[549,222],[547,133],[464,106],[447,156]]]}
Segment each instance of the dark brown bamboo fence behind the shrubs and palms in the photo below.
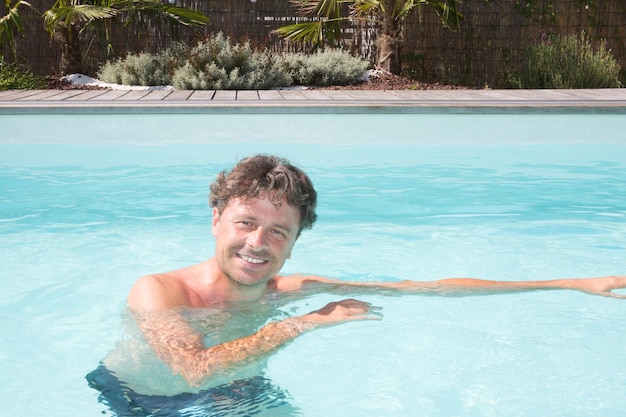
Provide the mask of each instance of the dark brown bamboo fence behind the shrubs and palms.
{"label": "dark brown bamboo fence behind the shrubs and palms", "polygon": [[[165,0],[166,1],[166,0]],[[170,0],[174,1],[174,0]],[[182,28],[175,36],[156,24],[141,28],[113,25],[113,50],[123,56],[139,51],[157,52],[172,40],[193,42],[211,33],[223,32],[235,42],[248,41],[271,51],[307,50],[281,39],[273,31],[301,21],[288,0],[175,0],[177,4],[203,11],[210,23],[201,29]],[[35,73],[56,74],[60,49],[43,29],[41,13],[54,0],[30,0],[34,10],[23,8],[26,33],[16,37],[18,60]],[[549,34],[585,33],[611,49],[626,67],[625,0],[463,0],[459,10],[464,21],[459,29],[443,27],[429,8],[420,7],[404,19],[402,62],[404,75],[422,82],[466,86],[504,87],[519,65],[528,45]],[[0,15],[4,15],[4,5]],[[137,35],[139,33],[139,35]],[[83,33],[81,48],[85,72],[93,75],[105,61],[96,41]],[[342,46],[366,59],[376,54],[372,26],[344,28]],[[5,60],[10,55],[3,45]]]}

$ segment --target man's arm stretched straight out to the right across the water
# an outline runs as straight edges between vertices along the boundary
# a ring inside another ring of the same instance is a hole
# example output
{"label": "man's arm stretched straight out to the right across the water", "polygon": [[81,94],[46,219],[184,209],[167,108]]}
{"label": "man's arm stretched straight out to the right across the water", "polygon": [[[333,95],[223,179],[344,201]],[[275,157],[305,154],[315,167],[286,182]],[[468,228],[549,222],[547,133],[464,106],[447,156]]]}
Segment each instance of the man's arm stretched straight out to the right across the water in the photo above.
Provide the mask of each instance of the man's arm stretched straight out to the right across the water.
{"label": "man's arm stretched straight out to the right across the water", "polygon": [[279,291],[316,288],[333,293],[393,291],[446,296],[484,295],[536,290],[577,290],[588,294],[626,299],[613,290],[626,288],[626,276],[564,278],[545,281],[491,281],[477,278],[446,278],[436,281],[350,282],[319,276],[293,275],[276,280]]}

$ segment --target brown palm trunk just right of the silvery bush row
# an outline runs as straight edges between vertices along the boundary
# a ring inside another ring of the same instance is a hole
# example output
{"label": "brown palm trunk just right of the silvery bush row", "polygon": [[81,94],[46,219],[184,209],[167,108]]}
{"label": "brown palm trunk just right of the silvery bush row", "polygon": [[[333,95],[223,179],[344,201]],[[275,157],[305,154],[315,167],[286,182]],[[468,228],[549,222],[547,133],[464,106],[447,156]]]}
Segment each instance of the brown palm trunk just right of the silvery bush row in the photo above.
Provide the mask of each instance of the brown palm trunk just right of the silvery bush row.
{"label": "brown palm trunk just right of the silvery bush row", "polygon": [[402,30],[399,19],[394,16],[394,3],[397,0],[385,1],[385,11],[381,11],[380,34],[376,41],[378,56],[376,67],[392,74],[400,75],[400,46]]}

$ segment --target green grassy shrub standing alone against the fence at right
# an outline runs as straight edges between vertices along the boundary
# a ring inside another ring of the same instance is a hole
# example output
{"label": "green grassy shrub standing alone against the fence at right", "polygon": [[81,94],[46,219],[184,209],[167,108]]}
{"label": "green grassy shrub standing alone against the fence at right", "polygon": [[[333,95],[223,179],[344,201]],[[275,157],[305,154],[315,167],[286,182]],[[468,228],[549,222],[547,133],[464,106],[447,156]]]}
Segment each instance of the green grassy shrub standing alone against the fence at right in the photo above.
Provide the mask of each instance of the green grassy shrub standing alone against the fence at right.
{"label": "green grassy shrub standing alone against the fence at right", "polygon": [[616,88],[620,66],[604,46],[584,34],[552,36],[526,51],[512,84],[518,88]]}

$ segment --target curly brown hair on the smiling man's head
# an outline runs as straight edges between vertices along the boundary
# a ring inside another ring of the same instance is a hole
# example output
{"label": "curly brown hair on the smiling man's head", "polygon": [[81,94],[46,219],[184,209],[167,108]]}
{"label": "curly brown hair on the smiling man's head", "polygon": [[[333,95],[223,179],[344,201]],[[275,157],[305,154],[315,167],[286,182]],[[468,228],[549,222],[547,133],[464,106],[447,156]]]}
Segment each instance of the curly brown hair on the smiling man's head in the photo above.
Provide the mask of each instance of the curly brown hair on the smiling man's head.
{"label": "curly brown hair on the smiling man's head", "polygon": [[300,229],[313,227],[317,214],[317,192],[310,178],[288,160],[271,155],[242,159],[230,172],[220,172],[211,184],[209,204],[222,213],[233,198],[258,198],[266,194],[274,206],[284,199],[300,210]]}

